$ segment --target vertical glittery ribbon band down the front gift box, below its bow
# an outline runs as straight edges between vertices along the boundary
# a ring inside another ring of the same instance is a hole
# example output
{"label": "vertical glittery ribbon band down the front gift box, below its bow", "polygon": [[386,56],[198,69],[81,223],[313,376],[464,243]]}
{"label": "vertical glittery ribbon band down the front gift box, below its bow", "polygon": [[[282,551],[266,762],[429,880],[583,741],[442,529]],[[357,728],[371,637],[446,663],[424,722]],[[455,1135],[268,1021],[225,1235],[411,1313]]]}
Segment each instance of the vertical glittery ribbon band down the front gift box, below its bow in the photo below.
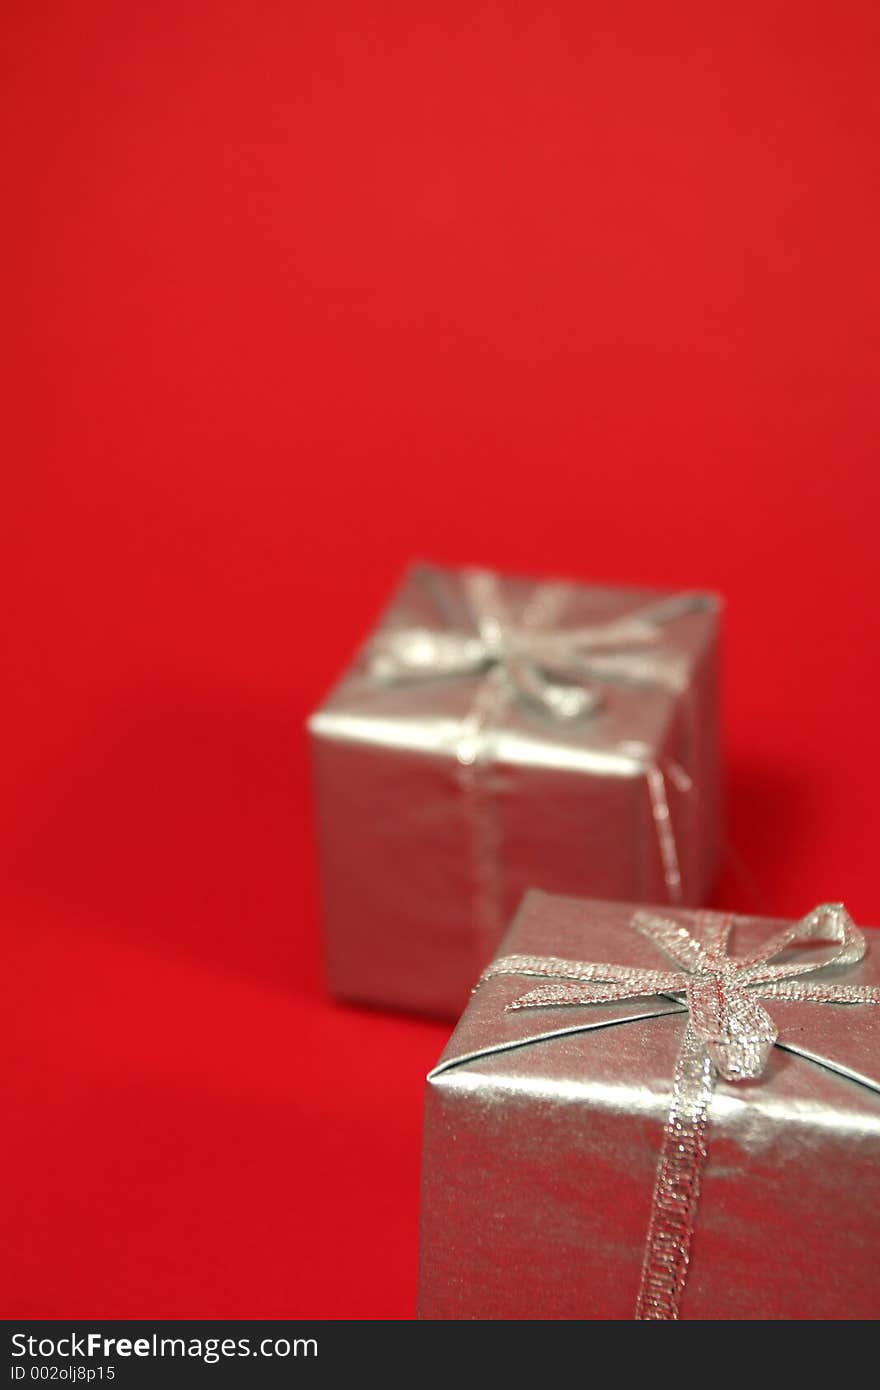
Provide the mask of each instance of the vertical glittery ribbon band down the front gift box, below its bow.
{"label": "vertical glittery ribbon band down the front gift box, below its bow", "polygon": [[691,1023],[676,1059],[673,1098],[658,1159],[641,1284],[638,1320],[678,1318],[708,1158],[706,1127],[715,1066]]}

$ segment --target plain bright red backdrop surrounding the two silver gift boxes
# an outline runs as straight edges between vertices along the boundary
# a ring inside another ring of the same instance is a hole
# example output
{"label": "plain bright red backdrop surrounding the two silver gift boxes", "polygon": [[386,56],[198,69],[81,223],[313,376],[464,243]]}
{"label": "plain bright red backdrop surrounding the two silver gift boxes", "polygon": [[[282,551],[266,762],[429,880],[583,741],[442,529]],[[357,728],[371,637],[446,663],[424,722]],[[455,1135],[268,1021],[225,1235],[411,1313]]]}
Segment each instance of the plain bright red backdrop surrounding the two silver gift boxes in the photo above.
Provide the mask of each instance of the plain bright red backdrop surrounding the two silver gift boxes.
{"label": "plain bright red backdrop surrounding the two silver gift boxes", "polygon": [[302,737],[410,556],[720,589],[717,902],[880,920],[880,11],[4,15],[3,1311],[410,1316]]}

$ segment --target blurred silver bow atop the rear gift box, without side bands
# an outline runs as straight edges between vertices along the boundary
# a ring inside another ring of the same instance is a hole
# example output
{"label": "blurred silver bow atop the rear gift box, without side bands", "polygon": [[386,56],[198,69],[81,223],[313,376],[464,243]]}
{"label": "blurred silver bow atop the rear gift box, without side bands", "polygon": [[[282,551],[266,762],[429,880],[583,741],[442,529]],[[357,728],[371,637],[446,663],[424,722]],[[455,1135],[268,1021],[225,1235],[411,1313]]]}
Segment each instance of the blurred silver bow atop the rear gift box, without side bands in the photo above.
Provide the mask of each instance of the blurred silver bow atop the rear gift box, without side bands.
{"label": "blurred silver bow atop the rear gift box, without side bands", "polygon": [[489,570],[466,570],[463,584],[477,632],[423,627],[381,632],[370,652],[374,676],[388,681],[425,680],[496,669],[519,695],[546,713],[576,719],[599,705],[591,681],[648,681],[680,688],[683,671],[676,662],[651,648],[662,623],[705,602],[699,595],[681,594],[627,617],[552,631],[516,623]]}

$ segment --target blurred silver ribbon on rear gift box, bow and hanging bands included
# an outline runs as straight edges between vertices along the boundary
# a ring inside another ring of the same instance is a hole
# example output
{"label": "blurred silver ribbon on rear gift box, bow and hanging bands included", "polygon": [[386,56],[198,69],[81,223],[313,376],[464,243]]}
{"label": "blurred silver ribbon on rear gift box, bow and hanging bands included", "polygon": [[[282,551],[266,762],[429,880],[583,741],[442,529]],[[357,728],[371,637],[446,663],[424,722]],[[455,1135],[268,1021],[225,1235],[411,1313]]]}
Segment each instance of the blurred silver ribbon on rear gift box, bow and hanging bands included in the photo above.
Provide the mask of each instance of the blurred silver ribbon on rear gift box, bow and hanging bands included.
{"label": "blurred silver ribbon on rear gift box, bow and hanging bands included", "polygon": [[[481,776],[491,756],[487,731],[499,724],[512,695],[553,720],[571,721],[598,710],[602,695],[596,685],[608,681],[684,689],[687,671],[680,660],[663,651],[660,630],[665,623],[701,610],[706,600],[699,594],[676,594],[624,617],[555,628],[571,595],[570,584],[537,585],[514,619],[499,577],[491,570],[464,570],[462,582],[475,632],[455,628],[438,632],[427,627],[381,631],[370,645],[368,669],[377,680],[388,682],[484,677],[462,720],[456,759],[470,820],[475,912],[491,951],[505,923],[499,831],[492,794]],[[634,752],[634,745],[627,751]],[[645,758],[669,899],[680,902],[681,869],[667,777],[685,791],[692,790],[691,778],[677,763],[660,767],[648,749],[639,746],[639,753]]]}

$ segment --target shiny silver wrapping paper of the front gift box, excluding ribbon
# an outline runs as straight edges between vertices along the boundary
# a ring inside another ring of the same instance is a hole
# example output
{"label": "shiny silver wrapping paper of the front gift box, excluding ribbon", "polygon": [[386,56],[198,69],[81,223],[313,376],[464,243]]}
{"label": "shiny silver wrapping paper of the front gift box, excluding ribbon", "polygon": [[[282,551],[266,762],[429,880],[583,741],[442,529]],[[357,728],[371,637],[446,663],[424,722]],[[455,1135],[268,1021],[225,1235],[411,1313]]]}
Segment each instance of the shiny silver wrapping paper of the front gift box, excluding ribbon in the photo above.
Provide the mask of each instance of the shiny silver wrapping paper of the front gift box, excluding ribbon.
{"label": "shiny silver wrapping paper of the front gift box, excluding ribbon", "polygon": [[[634,910],[532,892],[503,952],[662,967]],[[781,926],[735,919],[733,954]],[[865,934],[858,966],[810,979],[880,986]],[[631,1319],[685,1015],[658,997],[506,1013],[528,983],[484,981],[427,1083],[418,1315]],[[880,1009],[766,1008],[765,1074],[716,1081],[681,1318],[876,1318]]]}

